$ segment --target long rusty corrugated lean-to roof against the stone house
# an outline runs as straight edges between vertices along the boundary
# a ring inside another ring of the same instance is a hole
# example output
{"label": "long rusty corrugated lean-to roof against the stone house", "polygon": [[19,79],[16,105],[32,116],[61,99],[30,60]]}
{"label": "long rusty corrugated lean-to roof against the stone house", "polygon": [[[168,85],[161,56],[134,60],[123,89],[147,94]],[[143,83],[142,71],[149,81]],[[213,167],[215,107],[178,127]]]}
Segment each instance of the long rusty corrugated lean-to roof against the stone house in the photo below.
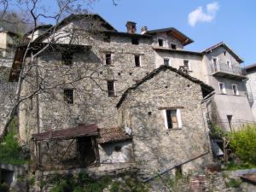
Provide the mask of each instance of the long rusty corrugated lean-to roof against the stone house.
{"label": "long rusty corrugated lean-to roof against the stone house", "polygon": [[36,141],[43,141],[49,139],[69,139],[74,137],[85,137],[85,136],[97,136],[98,126],[96,124],[91,125],[78,125],[73,128],[65,130],[55,130],[41,132],[38,134],[32,134],[32,139]]}

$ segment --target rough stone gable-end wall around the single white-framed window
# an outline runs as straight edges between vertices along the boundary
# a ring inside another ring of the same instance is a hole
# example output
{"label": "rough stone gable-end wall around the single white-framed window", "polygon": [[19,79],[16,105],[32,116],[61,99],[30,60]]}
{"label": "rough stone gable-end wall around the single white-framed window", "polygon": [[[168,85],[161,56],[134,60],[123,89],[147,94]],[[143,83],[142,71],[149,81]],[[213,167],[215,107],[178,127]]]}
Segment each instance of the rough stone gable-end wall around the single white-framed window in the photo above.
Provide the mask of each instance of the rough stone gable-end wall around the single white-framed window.
{"label": "rough stone gable-end wall around the single white-framed window", "polygon": [[[135,160],[143,172],[162,172],[208,151],[201,100],[199,84],[169,70],[128,94],[119,108],[119,120],[133,131]],[[166,130],[161,107],[182,107],[180,129]],[[210,163],[210,156],[184,165],[183,172]]]}

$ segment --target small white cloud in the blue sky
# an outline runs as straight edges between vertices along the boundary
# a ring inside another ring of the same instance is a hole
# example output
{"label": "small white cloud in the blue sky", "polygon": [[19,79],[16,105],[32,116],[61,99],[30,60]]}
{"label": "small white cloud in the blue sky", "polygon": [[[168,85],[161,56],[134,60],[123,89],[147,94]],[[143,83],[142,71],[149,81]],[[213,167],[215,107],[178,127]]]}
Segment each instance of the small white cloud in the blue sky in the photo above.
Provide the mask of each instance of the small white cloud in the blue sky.
{"label": "small white cloud in the blue sky", "polygon": [[207,11],[205,12],[202,7],[198,7],[189,13],[189,25],[195,26],[197,22],[211,22],[218,11],[218,2],[208,3]]}

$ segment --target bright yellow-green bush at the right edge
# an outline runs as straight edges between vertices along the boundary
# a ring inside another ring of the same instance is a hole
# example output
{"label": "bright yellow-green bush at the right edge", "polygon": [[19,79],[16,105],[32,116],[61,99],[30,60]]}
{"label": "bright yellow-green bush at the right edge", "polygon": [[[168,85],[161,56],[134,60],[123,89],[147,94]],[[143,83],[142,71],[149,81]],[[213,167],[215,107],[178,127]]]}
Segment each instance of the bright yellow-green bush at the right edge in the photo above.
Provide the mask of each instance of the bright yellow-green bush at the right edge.
{"label": "bright yellow-green bush at the right edge", "polygon": [[247,125],[228,136],[230,147],[243,163],[256,166],[256,125]]}

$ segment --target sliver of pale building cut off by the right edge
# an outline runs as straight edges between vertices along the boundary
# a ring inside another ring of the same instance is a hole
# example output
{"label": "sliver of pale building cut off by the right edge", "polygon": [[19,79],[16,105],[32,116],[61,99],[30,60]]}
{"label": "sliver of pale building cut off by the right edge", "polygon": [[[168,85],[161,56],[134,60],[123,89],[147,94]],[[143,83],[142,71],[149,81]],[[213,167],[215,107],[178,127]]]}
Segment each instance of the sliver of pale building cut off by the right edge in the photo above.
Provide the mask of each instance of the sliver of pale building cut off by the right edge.
{"label": "sliver of pale building cut off by the right edge", "polygon": [[256,121],[256,64],[245,67],[247,72],[247,97],[253,111],[253,118]]}

